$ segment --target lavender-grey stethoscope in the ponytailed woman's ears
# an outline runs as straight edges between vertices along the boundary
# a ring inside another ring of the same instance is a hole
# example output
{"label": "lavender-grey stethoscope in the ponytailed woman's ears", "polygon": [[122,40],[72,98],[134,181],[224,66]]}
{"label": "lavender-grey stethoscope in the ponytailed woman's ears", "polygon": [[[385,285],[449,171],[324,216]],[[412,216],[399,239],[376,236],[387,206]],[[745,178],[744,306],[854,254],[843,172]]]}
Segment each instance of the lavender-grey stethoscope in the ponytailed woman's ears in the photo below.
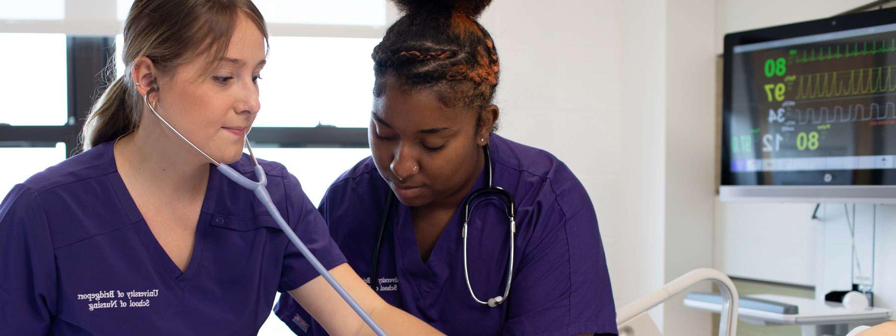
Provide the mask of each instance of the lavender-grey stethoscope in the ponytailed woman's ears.
{"label": "lavender-grey stethoscope in the ponytailed woman's ears", "polygon": [[355,310],[355,313],[357,313],[358,316],[361,316],[361,319],[364,320],[364,322],[367,323],[368,326],[370,326],[370,329],[373,329],[377,335],[385,335],[386,333],[383,332],[383,329],[380,328],[378,324],[376,324],[374,319],[372,319],[366,311],[364,311],[364,308],[361,308],[361,306],[358,305],[358,302],[356,302],[355,299],[352,298],[351,295],[349,295],[349,292],[345,291],[340,283],[333,279],[330,272],[323,267],[323,264],[321,264],[321,262],[319,262],[316,257],[314,257],[314,254],[312,254],[311,251],[308,250],[305,244],[302,243],[302,241],[296,236],[296,233],[293,232],[291,228],[289,228],[286,220],[283,220],[283,217],[280,216],[280,211],[277,210],[277,207],[274,205],[273,201],[271,201],[271,195],[268,194],[268,191],[265,188],[265,186],[268,185],[268,179],[264,176],[264,169],[258,164],[258,160],[255,159],[255,155],[252,152],[252,146],[249,145],[249,139],[247,139],[245,136],[243,138],[244,142],[246,143],[246,148],[249,149],[249,156],[252,157],[252,161],[255,165],[255,177],[258,179],[258,182],[254,182],[253,180],[244,177],[243,175],[237,173],[237,171],[233,168],[230,168],[230,166],[228,165],[223,165],[220,162],[211,159],[208,154],[196,147],[193,142],[186,140],[183,134],[180,134],[180,132],[177,132],[177,130],[173,126],[168,124],[168,121],[165,121],[165,118],[159,116],[159,112],[156,112],[156,108],[153,107],[152,104],[150,104],[150,94],[153,91],[158,90],[159,88],[155,84],[153,84],[150,90],[146,91],[146,95],[143,96],[143,103],[146,104],[146,107],[150,108],[152,115],[156,116],[156,118],[161,121],[162,125],[168,127],[168,130],[177,135],[180,140],[184,141],[187,145],[193,148],[194,151],[202,155],[202,157],[209,160],[212,165],[215,165],[215,167],[218,168],[218,171],[220,171],[221,174],[224,174],[225,177],[228,177],[238,185],[242,185],[246,189],[252,190],[255,194],[255,197],[258,197],[258,200],[261,201],[262,204],[264,204],[264,208],[271,213],[271,217],[273,217],[274,221],[277,222],[277,225],[280,226],[280,229],[283,230],[283,233],[286,233],[287,237],[289,237],[289,241],[291,241],[292,244],[298,248],[298,251],[305,256],[305,259],[309,263],[311,263],[311,265],[314,267],[314,270],[320,273],[321,276],[323,276],[323,279],[327,280],[327,282],[330,283],[330,286],[332,286],[333,289],[336,289],[336,292],[339,293],[340,297],[342,297],[342,299],[344,299],[345,302]]}

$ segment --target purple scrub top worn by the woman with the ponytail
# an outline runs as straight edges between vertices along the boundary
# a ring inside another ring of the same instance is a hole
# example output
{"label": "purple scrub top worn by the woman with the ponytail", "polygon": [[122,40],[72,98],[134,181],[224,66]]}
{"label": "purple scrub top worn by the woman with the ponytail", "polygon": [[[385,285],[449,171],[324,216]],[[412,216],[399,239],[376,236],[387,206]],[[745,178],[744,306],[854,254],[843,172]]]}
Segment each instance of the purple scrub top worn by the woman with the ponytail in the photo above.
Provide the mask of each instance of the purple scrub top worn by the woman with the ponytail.
{"label": "purple scrub top worn by the woman with the ponytail", "polygon": [[[181,272],[143,220],[112,150],[106,142],[66,159],[0,203],[0,334],[254,335],[277,291],[318,276],[254,194],[211,165]],[[345,263],[296,177],[259,163],[298,237],[328,269]],[[254,179],[245,154],[230,167]]]}

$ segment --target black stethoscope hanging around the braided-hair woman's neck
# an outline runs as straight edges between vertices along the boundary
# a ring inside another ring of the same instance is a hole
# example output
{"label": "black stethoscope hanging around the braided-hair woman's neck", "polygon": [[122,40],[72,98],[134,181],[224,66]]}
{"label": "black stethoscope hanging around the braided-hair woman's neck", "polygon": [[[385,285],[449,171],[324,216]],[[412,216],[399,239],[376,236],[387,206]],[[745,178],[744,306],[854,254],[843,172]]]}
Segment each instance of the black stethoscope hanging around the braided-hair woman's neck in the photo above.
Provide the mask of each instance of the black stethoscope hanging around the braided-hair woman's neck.
{"label": "black stethoscope hanging around the braided-hair woman's neck", "polygon": [[[461,229],[461,238],[463,239],[463,276],[467,280],[467,289],[470,289],[470,296],[473,297],[478,304],[487,305],[490,307],[495,307],[501,305],[505,301],[507,301],[507,296],[510,294],[510,284],[513,280],[513,236],[516,234],[516,222],[513,221],[515,215],[516,204],[513,202],[513,195],[508,193],[504,188],[500,186],[495,186],[492,180],[492,155],[491,150],[488,149],[488,145],[482,146],[483,155],[486,157],[486,178],[487,185],[486,187],[477,189],[476,191],[470,193],[466,199],[463,201],[463,228]],[[490,297],[487,301],[482,301],[476,294],[473,293],[473,287],[470,286],[470,270],[467,267],[467,227],[470,224],[470,213],[473,208],[476,207],[476,204],[472,204],[473,200],[477,199],[479,196],[486,194],[495,194],[499,197],[499,199],[503,198],[504,208],[507,212],[507,219],[510,221],[510,228],[508,231],[510,232],[510,257],[509,257],[509,267],[507,268],[507,282],[504,285],[504,295],[500,295],[497,297]],[[371,265],[371,276],[370,276],[370,287],[374,290],[377,290],[380,285],[380,280],[377,278],[377,272],[379,271],[379,259],[380,259],[380,249],[383,244],[383,236],[386,231],[386,224],[389,222],[389,211],[392,207],[392,199],[395,198],[395,194],[392,191],[389,191],[389,194],[386,196],[386,205],[383,209],[383,217],[380,220],[380,234],[376,238],[376,246],[374,249],[374,260]],[[473,207],[470,207],[470,204]]]}

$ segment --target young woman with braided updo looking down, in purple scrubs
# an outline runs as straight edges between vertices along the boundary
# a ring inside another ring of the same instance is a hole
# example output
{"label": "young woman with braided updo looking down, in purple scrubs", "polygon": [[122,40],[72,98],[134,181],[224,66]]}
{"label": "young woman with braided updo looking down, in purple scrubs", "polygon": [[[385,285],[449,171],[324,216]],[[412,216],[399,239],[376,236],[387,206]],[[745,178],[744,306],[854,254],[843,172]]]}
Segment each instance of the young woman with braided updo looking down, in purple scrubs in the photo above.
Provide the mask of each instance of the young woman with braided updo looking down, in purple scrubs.
{"label": "young woman with braided updo looking down, in purple scrubs", "polygon": [[[584,187],[494,133],[500,63],[476,20],[490,0],[394,1],[404,15],[373,52],[373,155],[318,208],[351,267],[449,335],[616,334]],[[478,192],[490,185],[507,194]],[[289,297],[276,311],[297,334],[324,333]]]}

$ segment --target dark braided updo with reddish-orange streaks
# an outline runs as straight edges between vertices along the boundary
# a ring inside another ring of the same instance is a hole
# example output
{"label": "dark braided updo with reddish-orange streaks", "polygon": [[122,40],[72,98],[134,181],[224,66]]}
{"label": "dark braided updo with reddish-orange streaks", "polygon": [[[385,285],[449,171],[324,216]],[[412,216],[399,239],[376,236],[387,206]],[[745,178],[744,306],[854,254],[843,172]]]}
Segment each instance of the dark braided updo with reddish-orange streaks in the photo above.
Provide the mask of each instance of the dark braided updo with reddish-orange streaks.
{"label": "dark braided updo with reddish-orange streaks", "polygon": [[495,42],[476,20],[491,0],[392,1],[404,15],[374,47],[374,97],[392,82],[430,90],[446,107],[481,113],[492,103],[500,71]]}

